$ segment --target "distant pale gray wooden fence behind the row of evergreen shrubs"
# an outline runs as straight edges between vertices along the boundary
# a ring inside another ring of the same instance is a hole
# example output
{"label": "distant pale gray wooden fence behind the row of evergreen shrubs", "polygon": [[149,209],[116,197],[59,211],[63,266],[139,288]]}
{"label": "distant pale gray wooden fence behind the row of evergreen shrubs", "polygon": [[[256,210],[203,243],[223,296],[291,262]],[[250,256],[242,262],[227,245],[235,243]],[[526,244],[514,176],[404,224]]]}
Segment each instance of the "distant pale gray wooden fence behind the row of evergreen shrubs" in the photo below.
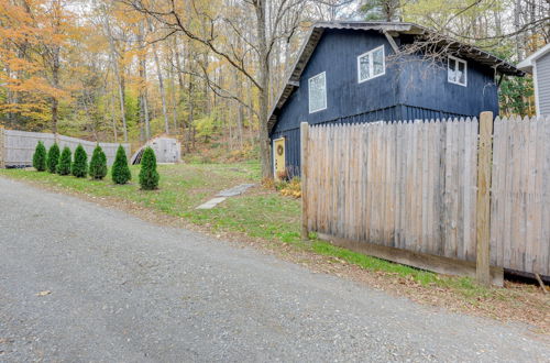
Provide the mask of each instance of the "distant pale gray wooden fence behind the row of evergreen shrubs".
{"label": "distant pale gray wooden fence behind the row of evergreen shrubs", "polygon": [[[57,135],[56,138],[53,133],[3,130],[0,128],[0,167],[31,166],[34,150],[38,141],[42,141],[46,148],[57,141],[62,150],[68,146],[73,152],[80,144],[88,153],[88,157],[91,157],[91,153],[97,145],[96,142],[76,138],[63,135]],[[108,165],[112,165],[119,144],[99,143],[99,145],[106,153]],[[130,144],[122,144],[122,146],[127,151],[127,155],[130,156]]]}

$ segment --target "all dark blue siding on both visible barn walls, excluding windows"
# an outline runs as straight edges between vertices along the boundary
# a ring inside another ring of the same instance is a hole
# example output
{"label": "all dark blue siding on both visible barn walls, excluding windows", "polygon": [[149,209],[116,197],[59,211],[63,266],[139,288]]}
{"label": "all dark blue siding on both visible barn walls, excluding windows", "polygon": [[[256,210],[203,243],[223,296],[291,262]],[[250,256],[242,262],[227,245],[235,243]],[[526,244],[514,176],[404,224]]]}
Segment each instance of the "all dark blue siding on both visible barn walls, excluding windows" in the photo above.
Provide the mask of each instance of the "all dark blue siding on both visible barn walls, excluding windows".
{"label": "all dark blue siding on both visible barn walls, excluding windows", "polygon": [[[397,40],[399,41],[399,40]],[[384,45],[386,73],[358,82],[358,56]],[[388,58],[389,56],[389,58]],[[309,113],[308,79],[327,77],[327,109]],[[299,124],[360,123],[477,117],[498,113],[497,88],[490,67],[468,62],[468,87],[447,80],[447,64],[419,56],[396,57],[386,37],[375,31],[327,30],[301,74],[299,87],[277,117],[272,140],[286,139],[286,165],[299,175]]]}

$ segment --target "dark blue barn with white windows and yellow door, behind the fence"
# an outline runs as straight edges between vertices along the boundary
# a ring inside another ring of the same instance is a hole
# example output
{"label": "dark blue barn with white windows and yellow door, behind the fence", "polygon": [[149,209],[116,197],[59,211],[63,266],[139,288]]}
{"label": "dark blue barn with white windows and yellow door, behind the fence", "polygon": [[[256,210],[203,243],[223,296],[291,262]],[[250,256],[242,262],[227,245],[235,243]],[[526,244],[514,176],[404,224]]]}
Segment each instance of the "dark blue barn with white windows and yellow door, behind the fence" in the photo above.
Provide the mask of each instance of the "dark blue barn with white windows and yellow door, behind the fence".
{"label": "dark blue barn with white windows and yellow door, behind the fence", "polygon": [[504,75],[524,73],[413,23],[318,23],[268,120],[274,174],[299,175],[300,122],[498,114],[497,90]]}

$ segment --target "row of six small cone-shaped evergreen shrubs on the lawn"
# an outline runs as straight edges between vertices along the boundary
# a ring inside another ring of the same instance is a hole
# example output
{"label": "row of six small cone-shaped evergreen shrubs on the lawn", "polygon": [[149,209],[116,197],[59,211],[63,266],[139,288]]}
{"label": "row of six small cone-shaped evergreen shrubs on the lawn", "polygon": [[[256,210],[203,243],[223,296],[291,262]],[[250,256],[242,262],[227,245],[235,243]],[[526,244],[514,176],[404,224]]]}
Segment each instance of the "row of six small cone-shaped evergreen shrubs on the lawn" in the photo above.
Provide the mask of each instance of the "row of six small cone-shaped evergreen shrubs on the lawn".
{"label": "row of six small cone-shaped evergreen shrubs on the lawn", "polygon": [[[33,155],[33,166],[37,172],[57,173],[59,175],[73,175],[77,178],[85,178],[88,175],[91,179],[101,180],[108,174],[107,156],[101,146],[97,145],[91,155],[91,161],[88,165],[88,155],[82,145],[78,145],[75,150],[75,158],[73,160],[70,148],[65,146],[59,154],[59,146],[54,143],[46,153],[46,147],[38,141]],[[111,169],[111,177],[114,184],[127,184],[131,180],[132,174],[128,166],[128,158],[122,145],[117,150],[117,157]],[[158,188],[160,175],[156,172],[156,156],[151,147],[146,147],[143,152],[141,169],[140,169],[140,186],[143,190],[153,190]]]}

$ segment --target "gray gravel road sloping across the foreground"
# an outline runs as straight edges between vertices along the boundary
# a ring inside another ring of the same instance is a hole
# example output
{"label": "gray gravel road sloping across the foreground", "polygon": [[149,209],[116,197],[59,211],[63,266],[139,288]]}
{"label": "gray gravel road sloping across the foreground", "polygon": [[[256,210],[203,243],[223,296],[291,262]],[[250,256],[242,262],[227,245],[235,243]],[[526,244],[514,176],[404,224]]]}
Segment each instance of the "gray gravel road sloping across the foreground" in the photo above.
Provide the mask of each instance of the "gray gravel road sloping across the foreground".
{"label": "gray gravel road sloping across the foreground", "polygon": [[0,361],[548,362],[550,346],[0,178]]}

